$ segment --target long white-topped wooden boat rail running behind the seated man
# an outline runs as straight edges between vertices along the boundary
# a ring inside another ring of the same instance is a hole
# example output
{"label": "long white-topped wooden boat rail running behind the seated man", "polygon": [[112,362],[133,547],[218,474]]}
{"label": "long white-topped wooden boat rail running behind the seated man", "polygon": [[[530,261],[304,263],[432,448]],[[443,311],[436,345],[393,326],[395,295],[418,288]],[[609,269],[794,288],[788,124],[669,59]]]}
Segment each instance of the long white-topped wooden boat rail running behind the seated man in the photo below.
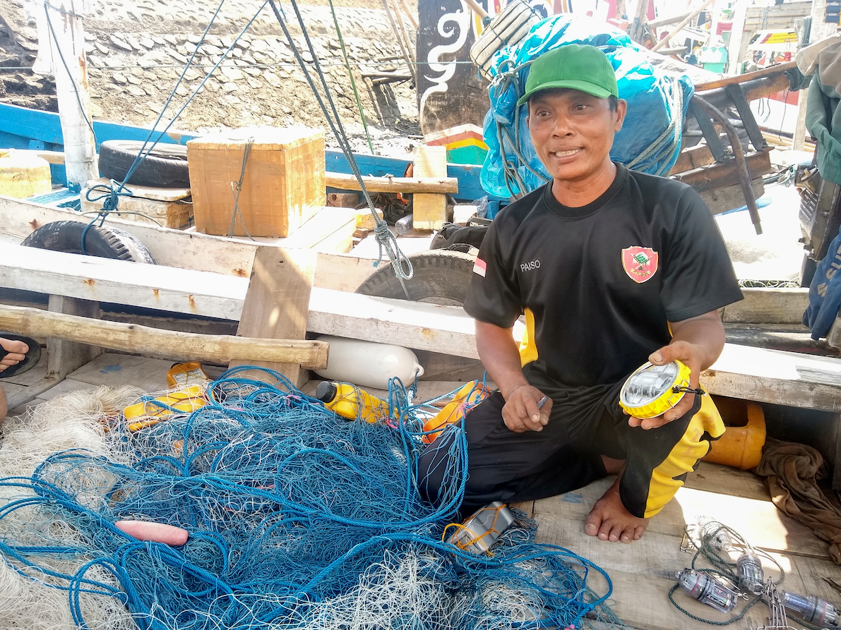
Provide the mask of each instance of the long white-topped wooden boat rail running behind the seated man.
{"label": "long white-topped wooden boat rail running behind the seated man", "polygon": [[[24,247],[0,249],[0,284],[99,302],[239,319],[247,280]],[[188,292],[192,291],[192,292]],[[398,341],[409,348],[478,358],[473,319],[460,307],[314,288],[309,332]],[[517,330],[515,336],[519,336]],[[841,411],[841,360],[726,344],[701,375],[721,396]]]}

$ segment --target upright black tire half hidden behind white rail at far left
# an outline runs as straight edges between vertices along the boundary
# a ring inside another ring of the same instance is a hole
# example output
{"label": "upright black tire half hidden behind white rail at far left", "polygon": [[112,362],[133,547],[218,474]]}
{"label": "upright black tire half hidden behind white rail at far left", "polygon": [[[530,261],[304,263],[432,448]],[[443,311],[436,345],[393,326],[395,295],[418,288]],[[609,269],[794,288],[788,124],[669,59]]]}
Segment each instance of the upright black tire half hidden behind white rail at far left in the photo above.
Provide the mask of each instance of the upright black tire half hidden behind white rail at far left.
{"label": "upright black tire half hidden behind white rail at far left", "polygon": [[[82,232],[86,225],[87,223],[79,221],[46,223],[29,234],[21,244],[66,254],[82,254]],[[155,264],[149,250],[140,243],[140,240],[118,228],[93,226],[87,230],[85,251],[88,256],[98,256],[98,258]]]}

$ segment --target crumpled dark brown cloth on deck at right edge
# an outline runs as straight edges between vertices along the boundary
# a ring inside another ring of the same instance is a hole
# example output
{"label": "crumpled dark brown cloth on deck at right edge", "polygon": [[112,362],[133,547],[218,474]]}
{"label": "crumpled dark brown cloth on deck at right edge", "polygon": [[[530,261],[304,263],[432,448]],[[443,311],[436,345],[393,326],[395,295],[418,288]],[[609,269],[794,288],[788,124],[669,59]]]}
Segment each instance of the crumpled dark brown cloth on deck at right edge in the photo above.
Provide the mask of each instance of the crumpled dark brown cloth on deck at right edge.
{"label": "crumpled dark brown cloth on deck at right edge", "polygon": [[821,454],[811,446],[768,438],[754,472],[765,477],[774,505],[826,540],[829,557],[841,564],[841,509],[817,487],[817,480],[828,475]]}

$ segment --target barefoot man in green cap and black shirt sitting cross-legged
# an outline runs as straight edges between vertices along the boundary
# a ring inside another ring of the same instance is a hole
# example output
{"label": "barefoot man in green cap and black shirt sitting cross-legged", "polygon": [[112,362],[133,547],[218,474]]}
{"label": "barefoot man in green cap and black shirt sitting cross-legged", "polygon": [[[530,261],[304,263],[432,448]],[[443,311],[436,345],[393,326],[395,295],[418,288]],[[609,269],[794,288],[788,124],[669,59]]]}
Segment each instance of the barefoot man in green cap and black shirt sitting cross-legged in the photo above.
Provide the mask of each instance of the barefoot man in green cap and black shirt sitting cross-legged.
{"label": "barefoot man in green cap and black shirt sitting cross-legged", "polygon": [[[628,417],[621,386],[646,361],[680,360],[697,388],[724,347],[717,309],[742,293],[701,197],[611,161],[627,102],[603,52],[569,44],[541,55],[524,102],[552,180],[496,216],[473,267],[464,310],[499,391],[465,418],[461,513],[616,474],[584,531],[630,543],[724,426],[709,396],[695,394],[658,417]],[[518,351],[512,326],[522,315]],[[444,432],[421,455],[428,501],[452,474],[453,439]]]}

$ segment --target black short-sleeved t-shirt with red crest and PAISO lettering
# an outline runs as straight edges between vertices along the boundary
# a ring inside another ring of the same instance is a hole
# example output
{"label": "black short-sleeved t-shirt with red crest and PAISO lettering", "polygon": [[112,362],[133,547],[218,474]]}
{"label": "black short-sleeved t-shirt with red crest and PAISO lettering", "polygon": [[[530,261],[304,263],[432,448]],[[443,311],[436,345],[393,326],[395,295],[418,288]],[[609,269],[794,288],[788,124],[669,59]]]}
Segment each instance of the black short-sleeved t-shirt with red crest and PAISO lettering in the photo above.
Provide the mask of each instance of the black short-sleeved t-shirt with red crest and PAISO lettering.
{"label": "black short-sleeved t-shirt with red crest and PAISO lettering", "polygon": [[742,299],[701,197],[680,181],[616,169],[586,206],[563,206],[549,182],[505,207],[464,304],[501,328],[531,311],[530,369],[566,386],[619,381],[669,344],[669,322]]}

